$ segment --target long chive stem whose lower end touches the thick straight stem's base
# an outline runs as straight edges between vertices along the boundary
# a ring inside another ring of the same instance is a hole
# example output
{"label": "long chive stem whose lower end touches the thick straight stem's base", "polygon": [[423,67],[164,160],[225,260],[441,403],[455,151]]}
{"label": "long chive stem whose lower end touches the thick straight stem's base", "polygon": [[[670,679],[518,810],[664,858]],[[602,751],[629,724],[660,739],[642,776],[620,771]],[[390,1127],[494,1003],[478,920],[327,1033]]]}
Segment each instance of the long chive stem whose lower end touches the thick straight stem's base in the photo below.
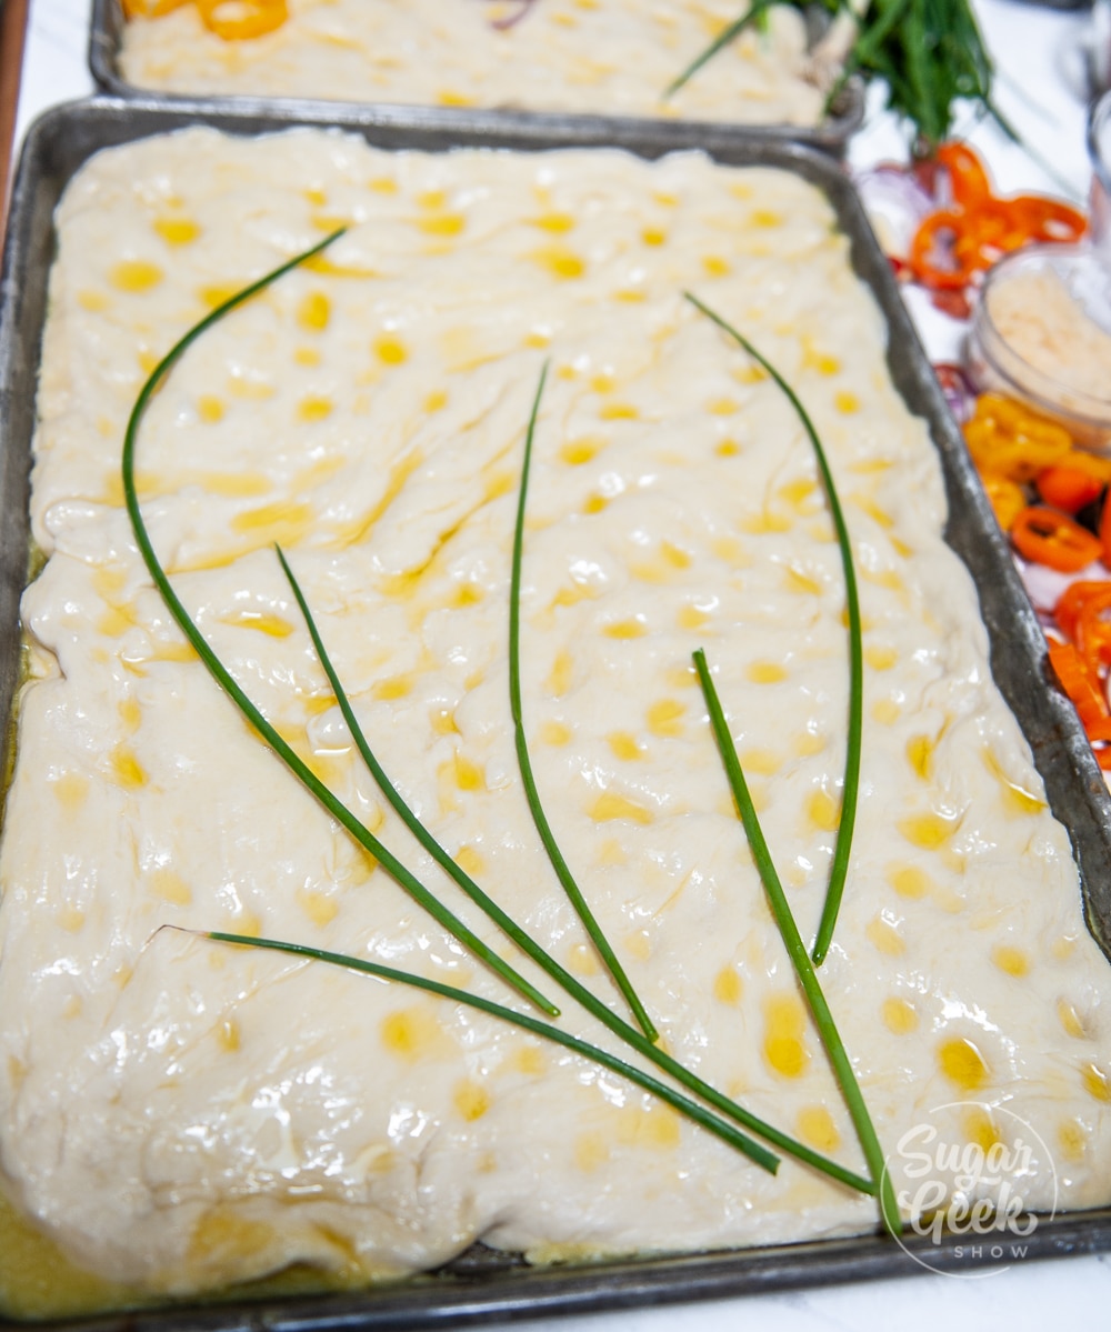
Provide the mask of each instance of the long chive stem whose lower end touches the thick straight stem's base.
{"label": "long chive stem whose lower end touches the thick straight stem's base", "polygon": [[350,702],[344,691],[342,682],[328,655],[328,650],[324,646],[324,641],[320,635],[320,630],[313,619],[313,614],[308,606],[308,602],[301,591],[300,585],[289,567],[289,563],[278,551],[278,555],[285,569],[285,575],[289,579],[290,587],[293,589],[293,595],[305,615],[305,622],[309,626],[309,634],[313,641],[313,646],[320,657],[321,665],[328,675],[332,690],[336,695],[336,701],[344,713],[344,719],[354,737],[356,746],[362,755],[372,777],[378,783],[378,789],[382,795],[389,801],[393,810],[398,814],[410,832],[416,836],[420,844],[433,856],[437,864],[444,868],[444,871],[474,900],[482,907],[484,911],[490,916],[490,919],[498,924],[514,943],[525,952],[532,960],[548,972],[552,979],[559,984],[565,994],[571,999],[577,1000],[582,1007],[598,1019],[605,1027],[607,1027],[619,1040],[625,1042],[626,1046],[638,1051],[646,1059],[651,1060],[658,1068],[670,1074],[678,1083],[693,1092],[695,1096],[701,1096],[702,1100],[714,1106],[723,1115],[743,1124],[750,1128],[754,1134],[758,1134],[766,1142],[773,1143],[779,1147],[786,1155],[794,1156],[797,1160],[814,1169],[821,1171],[825,1175],[835,1179],[838,1183],[849,1185],[862,1193],[874,1193],[875,1189],[870,1180],[861,1175],[855,1175],[853,1171],[845,1169],[838,1166],[837,1162],[822,1156],[821,1152],[815,1152],[806,1147],[803,1143],[797,1142],[787,1134],[781,1132],[771,1124],[759,1119],[757,1115],[750,1114],[743,1110],[735,1102],[730,1100],[727,1096],[715,1091],[709,1083],[703,1082],[697,1074],[693,1074],[689,1068],[681,1064],[677,1059],[665,1054],[658,1046],[653,1044],[639,1032],[635,1027],[630,1026],[622,1018],[619,1018],[611,1008],[602,1003],[597,995],[591,994],[582,982],[573,976],[567,970],[565,970],[549,952],[546,952],[530,935],[528,935],[512,916],[509,916],[492,898],[489,898],[482,888],[470,878],[470,875],[457,864],[449,852],[437,842],[433,834],[425,827],[424,823],[417,818],[409,805],[405,803],[404,797],[397,790],[397,787],[390,782],[385,769],[378,762],[374,751],[370,749],[370,743],[362,727],[358,723],[358,718],[354,715],[354,710],[350,707]]}

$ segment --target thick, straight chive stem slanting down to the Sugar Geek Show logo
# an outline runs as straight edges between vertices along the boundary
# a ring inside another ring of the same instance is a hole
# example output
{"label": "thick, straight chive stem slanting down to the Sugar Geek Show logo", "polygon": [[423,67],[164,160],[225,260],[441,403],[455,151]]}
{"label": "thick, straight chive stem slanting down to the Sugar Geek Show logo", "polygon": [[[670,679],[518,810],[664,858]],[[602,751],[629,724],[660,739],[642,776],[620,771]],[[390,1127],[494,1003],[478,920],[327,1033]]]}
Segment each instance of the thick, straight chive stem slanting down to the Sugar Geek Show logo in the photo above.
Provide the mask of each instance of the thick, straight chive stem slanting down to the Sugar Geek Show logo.
{"label": "thick, straight chive stem slanting down to the Sugar Geek Show logo", "polygon": [[857,1136],[861,1140],[861,1147],[865,1152],[865,1160],[869,1163],[873,1183],[879,1192],[879,1211],[883,1224],[891,1235],[899,1235],[902,1231],[902,1220],[899,1217],[898,1203],[895,1201],[895,1189],[891,1184],[891,1176],[885,1168],[883,1150],[879,1146],[879,1139],[877,1138],[871,1115],[869,1115],[869,1108],[865,1104],[861,1086],[857,1082],[857,1075],[853,1072],[853,1064],[849,1062],[849,1055],[845,1051],[841,1034],[838,1032],[833,1014],[830,1012],[830,1006],[826,1003],[826,996],[818,982],[818,972],[814,970],[814,964],[806,951],[806,944],[802,942],[802,935],[798,932],[798,926],[795,924],[794,914],[791,912],[787,902],[787,895],[783,891],[783,884],[779,882],[779,875],[775,872],[775,866],[771,862],[771,852],[767,848],[767,842],[765,840],[763,830],[761,829],[759,818],[757,817],[755,806],[753,805],[753,798],[749,794],[745,774],[741,770],[741,762],[737,758],[737,749],[733,743],[733,737],[729,733],[729,723],[725,719],[718,691],[710,678],[710,670],[706,666],[706,654],[701,647],[694,653],[694,667],[698,671],[702,694],[706,698],[706,707],[710,714],[710,726],[714,731],[714,739],[717,741],[718,751],[721,753],[722,763],[725,765],[729,785],[733,790],[733,798],[737,802],[737,810],[741,815],[741,822],[745,825],[745,834],[749,838],[749,846],[751,847],[753,859],[757,863],[761,882],[763,883],[765,892],[767,894],[771,914],[775,916],[775,924],[779,927],[779,934],[783,938],[783,944],[787,948],[791,966],[794,967],[798,982],[806,995],[806,1002],[810,1006],[810,1012],[813,1014],[814,1023],[818,1027],[818,1035],[826,1048],[830,1063],[833,1064],[834,1075],[841,1084],[845,1104],[849,1108],[849,1115],[853,1119],[853,1127],[857,1130]]}

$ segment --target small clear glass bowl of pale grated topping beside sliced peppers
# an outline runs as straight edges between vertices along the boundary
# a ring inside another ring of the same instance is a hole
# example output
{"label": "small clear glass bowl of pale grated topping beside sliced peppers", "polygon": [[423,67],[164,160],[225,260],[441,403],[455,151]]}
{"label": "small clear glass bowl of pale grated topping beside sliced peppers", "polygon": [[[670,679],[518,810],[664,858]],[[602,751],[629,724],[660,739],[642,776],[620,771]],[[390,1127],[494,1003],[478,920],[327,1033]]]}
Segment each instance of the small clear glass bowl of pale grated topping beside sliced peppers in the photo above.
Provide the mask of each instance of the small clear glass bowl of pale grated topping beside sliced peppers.
{"label": "small clear glass bowl of pale grated topping beside sliced peppers", "polygon": [[[1015,282],[1026,328],[1000,313]],[[1054,309],[1068,317],[1055,321],[1058,336],[1050,338]],[[1080,385],[1074,372],[1084,346],[1100,360]],[[1083,448],[1111,453],[1111,265],[1091,245],[1031,245],[1006,256],[980,289],[967,361],[980,392],[1018,398],[1060,421]]]}

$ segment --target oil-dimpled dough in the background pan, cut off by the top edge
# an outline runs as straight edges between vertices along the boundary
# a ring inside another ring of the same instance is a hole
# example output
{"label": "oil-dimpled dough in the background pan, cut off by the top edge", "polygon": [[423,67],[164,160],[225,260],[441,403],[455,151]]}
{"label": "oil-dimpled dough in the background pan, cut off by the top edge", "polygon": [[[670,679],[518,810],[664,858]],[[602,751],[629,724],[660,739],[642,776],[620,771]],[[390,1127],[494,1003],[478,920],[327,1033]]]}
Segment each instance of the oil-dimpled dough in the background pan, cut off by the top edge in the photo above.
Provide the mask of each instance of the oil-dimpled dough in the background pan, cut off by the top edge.
{"label": "oil-dimpled dough in the background pan, cut off by the top edge", "polygon": [[781,7],[690,83],[665,89],[737,19],[737,0],[288,0],[270,33],[226,41],[197,7],[124,28],[123,76],[183,93],[500,107],[549,112],[814,125],[825,113],[841,25],[806,51]]}

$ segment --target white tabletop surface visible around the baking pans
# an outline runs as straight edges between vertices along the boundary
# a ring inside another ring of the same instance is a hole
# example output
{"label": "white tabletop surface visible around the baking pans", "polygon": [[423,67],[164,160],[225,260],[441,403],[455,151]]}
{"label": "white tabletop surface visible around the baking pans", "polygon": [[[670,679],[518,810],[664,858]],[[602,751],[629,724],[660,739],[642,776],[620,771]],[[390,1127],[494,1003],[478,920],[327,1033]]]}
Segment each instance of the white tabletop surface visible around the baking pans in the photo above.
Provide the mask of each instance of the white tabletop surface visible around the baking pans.
{"label": "white tabletop surface visible around the baking pans", "polygon": [[[1052,164],[1056,181],[992,124],[968,116],[958,128],[987,157],[999,190],[1060,192],[1067,185],[1076,200],[1083,200],[1090,180],[1084,149],[1087,16],[1034,8],[1019,0],[974,4],[1000,69],[998,104],[1034,152]],[[17,139],[45,108],[93,92],[87,64],[89,11],[91,0],[31,0]],[[905,156],[905,139],[891,117],[881,113],[881,103],[879,96],[871,99],[865,129],[854,140],[850,161],[857,168]],[[934,312],[919,292],[907,294],[931,357],[956,358],[962,326]],[[514,1327],[522,1332],[1099,1332],[1111,1327],[1111,1255],[1028,1263],[979,1280],[923,1275],[705,1304],[538,1319]]]}

